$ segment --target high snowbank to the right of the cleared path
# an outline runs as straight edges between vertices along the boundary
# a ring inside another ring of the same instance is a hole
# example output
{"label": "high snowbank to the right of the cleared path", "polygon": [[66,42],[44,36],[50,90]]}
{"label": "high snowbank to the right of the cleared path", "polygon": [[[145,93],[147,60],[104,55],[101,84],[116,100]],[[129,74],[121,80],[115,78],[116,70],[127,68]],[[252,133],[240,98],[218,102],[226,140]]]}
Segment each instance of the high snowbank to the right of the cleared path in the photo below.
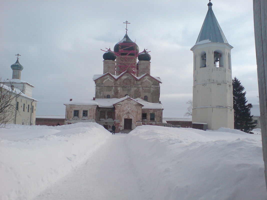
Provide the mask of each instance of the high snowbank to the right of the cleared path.
{"label": "high snowbank to the right of the cleared path", "polygon": [[154,200],[267,197],[260,134],[139,126],[127,139]]}

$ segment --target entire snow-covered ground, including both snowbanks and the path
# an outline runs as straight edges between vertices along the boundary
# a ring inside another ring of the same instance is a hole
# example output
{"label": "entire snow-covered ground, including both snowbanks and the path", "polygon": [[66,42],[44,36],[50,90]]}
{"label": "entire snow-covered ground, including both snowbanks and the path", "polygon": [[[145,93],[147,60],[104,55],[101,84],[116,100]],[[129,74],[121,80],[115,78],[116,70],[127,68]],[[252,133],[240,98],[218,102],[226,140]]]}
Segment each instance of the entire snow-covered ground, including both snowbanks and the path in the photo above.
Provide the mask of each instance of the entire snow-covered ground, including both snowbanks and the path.
{"label": "entire snow-covered ground, including both snowbanks and the path", "polygon": [[0,199],[267,199],[255,133],[11,125],[0,129]]}

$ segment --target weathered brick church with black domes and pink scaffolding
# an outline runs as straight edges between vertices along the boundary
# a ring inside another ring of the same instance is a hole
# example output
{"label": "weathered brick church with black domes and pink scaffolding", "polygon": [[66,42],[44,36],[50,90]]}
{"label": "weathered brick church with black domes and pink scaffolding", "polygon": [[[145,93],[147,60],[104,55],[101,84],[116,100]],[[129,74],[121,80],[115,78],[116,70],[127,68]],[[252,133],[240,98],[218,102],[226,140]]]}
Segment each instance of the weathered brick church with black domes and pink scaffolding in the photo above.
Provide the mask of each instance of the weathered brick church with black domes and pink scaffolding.
{"label": "weathered brick church with black domes and pink scaffolding", "polygon": [[123,39],[115,44],[114,51],[109,48],[103,59],[103,74],[93,76],[95,97],[65,103],[65,124],[97,122],[108,130],[114,124],[116,132],[140,125],[163,126],[159,101],[162,82],[150,75],[151,56],[146,49],[139,53],[127,27]]}

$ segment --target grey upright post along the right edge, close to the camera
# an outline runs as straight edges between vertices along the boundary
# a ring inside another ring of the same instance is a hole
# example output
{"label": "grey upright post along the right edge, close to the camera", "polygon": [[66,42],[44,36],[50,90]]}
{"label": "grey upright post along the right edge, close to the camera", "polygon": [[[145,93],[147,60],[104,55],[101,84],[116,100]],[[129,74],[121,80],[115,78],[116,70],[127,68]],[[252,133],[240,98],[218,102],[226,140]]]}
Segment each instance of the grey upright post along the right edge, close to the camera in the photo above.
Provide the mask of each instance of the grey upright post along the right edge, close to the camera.
{"label": "grey upright post along the right edge, close to the camera", "polygon": [[260,95],[262,151],[267,185],[267,1],[253,0],[254,33]]}

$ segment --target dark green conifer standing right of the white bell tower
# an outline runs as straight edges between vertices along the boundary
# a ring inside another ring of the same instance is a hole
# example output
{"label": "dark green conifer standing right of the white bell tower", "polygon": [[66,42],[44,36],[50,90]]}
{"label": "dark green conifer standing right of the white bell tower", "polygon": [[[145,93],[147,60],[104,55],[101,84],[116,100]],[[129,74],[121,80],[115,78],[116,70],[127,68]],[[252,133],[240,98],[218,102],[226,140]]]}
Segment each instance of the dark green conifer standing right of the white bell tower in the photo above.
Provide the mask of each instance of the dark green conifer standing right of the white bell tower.
{"label": "dark green conifer standing right of the white bell tower", "polygon": [[234,129],[252,133],[251,130],[256,126],[253,122],[253,115],[250,107],[246,105],[246,91],[241,82],[234,77],[233,79],[233,107],[234,107]]}

